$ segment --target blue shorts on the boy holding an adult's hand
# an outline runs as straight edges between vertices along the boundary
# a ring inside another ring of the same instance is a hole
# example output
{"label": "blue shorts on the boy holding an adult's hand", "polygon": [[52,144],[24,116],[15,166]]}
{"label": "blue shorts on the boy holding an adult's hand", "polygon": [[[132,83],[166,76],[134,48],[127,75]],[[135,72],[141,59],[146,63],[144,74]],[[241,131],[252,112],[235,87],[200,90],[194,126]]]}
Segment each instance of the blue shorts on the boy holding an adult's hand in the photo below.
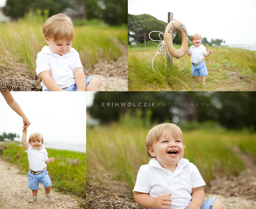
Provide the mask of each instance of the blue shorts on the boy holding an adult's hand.
{"label": "blue shorts on the boy holding an adult's hand", "polygon": [[39,181],[44,185],[44,187],[52,186],[52,182],[48,175],[48,171],[44,171],[41,174],[35,175],[29,171],[29,181],[27,182],[27,188],[32,190],[37,190]]}

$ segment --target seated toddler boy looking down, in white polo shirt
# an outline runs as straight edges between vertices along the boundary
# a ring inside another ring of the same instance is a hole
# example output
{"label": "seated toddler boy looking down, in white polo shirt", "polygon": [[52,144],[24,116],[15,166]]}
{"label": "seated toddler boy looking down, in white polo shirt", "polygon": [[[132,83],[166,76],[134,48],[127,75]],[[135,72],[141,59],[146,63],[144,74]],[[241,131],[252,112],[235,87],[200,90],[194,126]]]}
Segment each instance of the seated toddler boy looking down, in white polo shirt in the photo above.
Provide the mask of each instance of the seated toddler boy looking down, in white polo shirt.
{"label": "seated toddler boy looking down, in white polo shirt", "polygon": [[37,76],[43,91],[99,91],[96,76],[85,77],[79,53],[71,47],[74,26],[65,14],[45,21],[43,35],[49,46],[37,54]]}

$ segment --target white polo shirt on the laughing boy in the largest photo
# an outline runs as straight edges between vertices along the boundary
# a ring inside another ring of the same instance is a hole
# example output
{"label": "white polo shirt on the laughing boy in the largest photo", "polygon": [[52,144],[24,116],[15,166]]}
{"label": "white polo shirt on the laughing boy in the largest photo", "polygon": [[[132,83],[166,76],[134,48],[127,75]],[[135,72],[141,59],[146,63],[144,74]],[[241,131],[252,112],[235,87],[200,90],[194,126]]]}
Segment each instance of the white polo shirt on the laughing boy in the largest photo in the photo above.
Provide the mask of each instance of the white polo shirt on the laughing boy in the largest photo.
{"label": "white polo shirt on the laughing boy in the largest photo", "polygon": [[204,185],[197,167],[189,160],[182,158],[178,161],[172,173],[153,157],[147,165],[140,166],[133,191],[149,193],[152,197],[172,193],[170,208],[184,209],[191,203],[192,188]]}

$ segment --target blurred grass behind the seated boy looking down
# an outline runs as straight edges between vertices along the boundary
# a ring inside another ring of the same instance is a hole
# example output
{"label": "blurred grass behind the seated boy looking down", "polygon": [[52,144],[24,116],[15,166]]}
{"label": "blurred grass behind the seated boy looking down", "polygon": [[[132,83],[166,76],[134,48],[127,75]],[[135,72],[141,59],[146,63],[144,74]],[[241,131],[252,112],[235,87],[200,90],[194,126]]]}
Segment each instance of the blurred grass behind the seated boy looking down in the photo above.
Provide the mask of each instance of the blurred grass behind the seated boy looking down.
{"label": "blurred grass behind the seated boy looking down", "polygon": [[[10,57],[26,64],[27,75],[35,75],[36,58],[46,45],[42,28],[47,16],[29,13],[11,24],[0,23],[0,64],[12,65]],[[119,44],[127,45],[127,26],[110,27],[106,24],[75,26],[72,41],[85,67],[98,61],[113,61],[121,56]]]}

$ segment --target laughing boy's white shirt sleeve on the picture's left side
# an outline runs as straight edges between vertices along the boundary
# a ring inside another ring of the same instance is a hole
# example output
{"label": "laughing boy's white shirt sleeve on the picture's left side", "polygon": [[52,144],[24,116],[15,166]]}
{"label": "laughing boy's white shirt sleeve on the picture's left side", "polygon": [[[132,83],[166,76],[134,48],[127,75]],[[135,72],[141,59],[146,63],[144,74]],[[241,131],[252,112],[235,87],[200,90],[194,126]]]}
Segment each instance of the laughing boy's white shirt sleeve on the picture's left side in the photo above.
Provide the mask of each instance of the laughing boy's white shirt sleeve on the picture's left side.
{"label": "laughing boy's white shirt sleeve on the picture's left side", "polygon": [[133,191],[138,191],[141,193],[150,192],[150,178],[147,171],[141,166],[137,174],[137,179]]}

